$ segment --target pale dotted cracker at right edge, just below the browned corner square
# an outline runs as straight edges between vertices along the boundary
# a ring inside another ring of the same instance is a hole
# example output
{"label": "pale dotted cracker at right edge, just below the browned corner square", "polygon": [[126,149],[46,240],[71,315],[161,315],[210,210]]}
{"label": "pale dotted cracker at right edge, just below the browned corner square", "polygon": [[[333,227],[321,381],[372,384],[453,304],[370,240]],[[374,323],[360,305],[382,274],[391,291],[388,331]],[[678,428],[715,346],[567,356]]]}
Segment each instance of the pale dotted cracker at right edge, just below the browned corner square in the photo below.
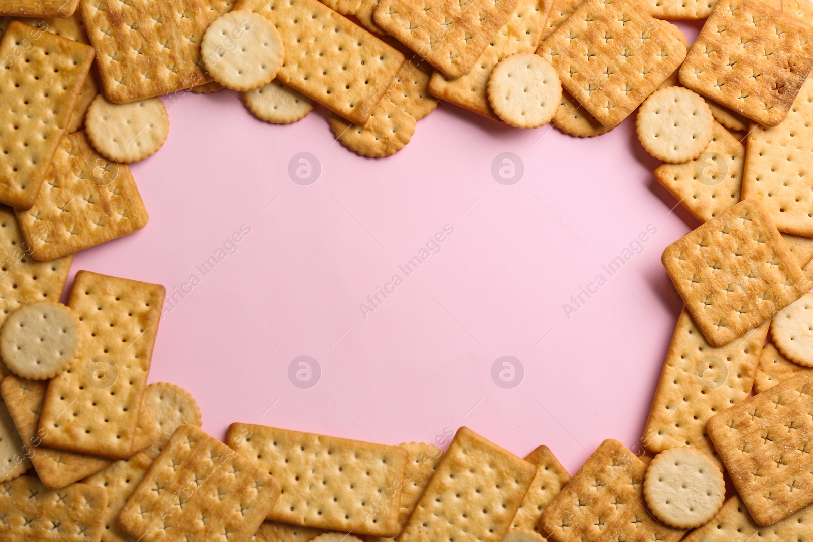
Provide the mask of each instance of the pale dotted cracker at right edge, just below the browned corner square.
{"label": "pale dotted cracker at right edge, just below the browned corner square", "polygon": [[813,236],[813,79],[808,79],[782,124],[752,125],[742,179],[744,197],[762,200],[780,232]]}

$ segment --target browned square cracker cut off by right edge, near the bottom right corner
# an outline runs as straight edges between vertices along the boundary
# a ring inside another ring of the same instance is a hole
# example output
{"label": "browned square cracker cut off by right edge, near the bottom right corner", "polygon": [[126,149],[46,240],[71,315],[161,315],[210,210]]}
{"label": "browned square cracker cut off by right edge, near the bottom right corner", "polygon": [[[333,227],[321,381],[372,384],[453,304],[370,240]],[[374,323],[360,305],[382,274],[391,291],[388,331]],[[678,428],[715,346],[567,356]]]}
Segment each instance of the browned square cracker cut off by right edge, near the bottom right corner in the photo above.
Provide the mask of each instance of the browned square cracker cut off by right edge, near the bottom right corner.
{"label": "browned square cracker cut off by right edge, near the bottom right corner", "polygon": [[709,420],[708,432],[759,525],[813,502],[813,380],[798,374]]}

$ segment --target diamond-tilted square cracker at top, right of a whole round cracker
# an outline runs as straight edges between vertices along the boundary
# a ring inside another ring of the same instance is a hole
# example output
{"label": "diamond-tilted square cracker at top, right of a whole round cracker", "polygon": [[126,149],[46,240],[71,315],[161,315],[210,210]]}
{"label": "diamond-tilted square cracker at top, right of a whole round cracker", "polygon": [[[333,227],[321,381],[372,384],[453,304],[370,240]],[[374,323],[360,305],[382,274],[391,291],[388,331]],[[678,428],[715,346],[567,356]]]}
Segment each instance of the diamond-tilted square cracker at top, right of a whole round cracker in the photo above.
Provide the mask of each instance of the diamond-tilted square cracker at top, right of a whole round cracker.
{"label": "diamond-tilted square cracker at top, right of a whole round cracker", "polygon": [[633,0],[585,0],[537,54],[590,115],[612,128],[680,66],[686,48]]}

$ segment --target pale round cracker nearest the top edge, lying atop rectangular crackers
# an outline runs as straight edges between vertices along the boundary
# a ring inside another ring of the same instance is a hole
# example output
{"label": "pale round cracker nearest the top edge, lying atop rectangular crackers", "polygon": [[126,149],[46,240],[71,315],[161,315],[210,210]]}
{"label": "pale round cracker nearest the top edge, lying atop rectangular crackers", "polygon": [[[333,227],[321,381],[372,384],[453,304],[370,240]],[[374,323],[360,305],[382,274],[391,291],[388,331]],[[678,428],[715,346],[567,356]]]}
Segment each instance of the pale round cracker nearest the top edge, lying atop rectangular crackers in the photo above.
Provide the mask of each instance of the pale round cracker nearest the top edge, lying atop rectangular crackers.
{"label": "pale round cracker nearest the top edge, lying atop rectangular crackers", "polygon": [[220,15],[201,40],[209,75],[220,85],[242,92],[270,83],[282,67],[283,51],[276,27],[250,11]]}

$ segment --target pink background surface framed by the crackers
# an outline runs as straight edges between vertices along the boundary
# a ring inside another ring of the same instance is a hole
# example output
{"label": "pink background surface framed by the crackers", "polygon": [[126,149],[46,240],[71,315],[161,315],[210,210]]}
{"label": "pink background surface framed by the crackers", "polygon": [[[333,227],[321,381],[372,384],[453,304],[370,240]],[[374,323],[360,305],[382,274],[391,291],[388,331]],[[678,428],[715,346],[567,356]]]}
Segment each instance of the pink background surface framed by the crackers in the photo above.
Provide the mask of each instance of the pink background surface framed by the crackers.
{"label": "pink background surface framed by the crackers", "polygon": [[[700,27],[680,26],[690,40]],[[671,210],[633,117],[576,139],[441,102],[404,150],[372,160],[333,141],[323,108],[277,126],[237,93],[165,103],[167,143],[133,166],[150,223],[72,271],[167,296],[198,276],[160,323],[150,381],[192,392],[206,431],[242,421],[398,444],[467,425],[520,455],[547,444],[572,473],[605,438],[637,450],[680,311],[660,254],[697,223]],[[320,162],[315,184],[289,178],[301,152]],[[503,152],[524,163],[517,184],[491,174]],[[203,276],[242,224],[237,252]],[[398,266],[446,224],[454,233],[407,277]],[[568,319],[563,304],[647,226],[640,254]],[[403,284],[363,318],[396,273]],[[320,364],[312,388],[289,381],[300,355]],[[503,355],[524,366],[515,388],[491,377]]]}

